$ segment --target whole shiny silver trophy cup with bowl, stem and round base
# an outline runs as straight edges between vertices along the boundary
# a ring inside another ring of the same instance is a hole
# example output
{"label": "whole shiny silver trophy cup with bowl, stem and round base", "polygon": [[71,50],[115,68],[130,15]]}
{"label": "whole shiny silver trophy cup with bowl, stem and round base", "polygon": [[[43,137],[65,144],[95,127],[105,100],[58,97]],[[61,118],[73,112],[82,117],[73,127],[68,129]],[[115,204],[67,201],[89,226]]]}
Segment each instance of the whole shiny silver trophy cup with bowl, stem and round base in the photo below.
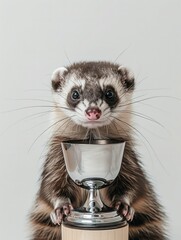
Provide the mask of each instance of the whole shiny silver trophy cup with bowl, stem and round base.
{"label": "whole shiny silver trophy cup with bowl, stem and round base", "polygon": [[126,221],[116,209],[106,206],[99,189],[110,185],[121,167],[125,142],[117,140],[76,140],[62,142],[67,172],[79,186],[87,189],[83,206],[71,211],[65,225],[79,228],[116,228]]}

